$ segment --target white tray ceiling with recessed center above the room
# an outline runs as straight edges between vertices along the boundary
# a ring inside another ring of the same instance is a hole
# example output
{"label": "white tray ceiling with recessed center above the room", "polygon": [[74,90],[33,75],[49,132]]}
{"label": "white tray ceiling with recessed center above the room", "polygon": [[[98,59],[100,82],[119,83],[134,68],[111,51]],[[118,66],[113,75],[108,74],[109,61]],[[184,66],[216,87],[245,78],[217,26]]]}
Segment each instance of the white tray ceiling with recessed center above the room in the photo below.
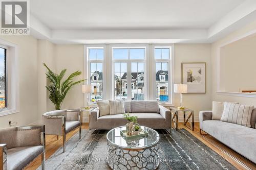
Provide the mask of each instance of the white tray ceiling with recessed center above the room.
{"label": "white tray ceiling with recessed center above the room", "polygon": [[54,43],[210,43],[256,16],[255,0],[33,0],[31,34]]}

